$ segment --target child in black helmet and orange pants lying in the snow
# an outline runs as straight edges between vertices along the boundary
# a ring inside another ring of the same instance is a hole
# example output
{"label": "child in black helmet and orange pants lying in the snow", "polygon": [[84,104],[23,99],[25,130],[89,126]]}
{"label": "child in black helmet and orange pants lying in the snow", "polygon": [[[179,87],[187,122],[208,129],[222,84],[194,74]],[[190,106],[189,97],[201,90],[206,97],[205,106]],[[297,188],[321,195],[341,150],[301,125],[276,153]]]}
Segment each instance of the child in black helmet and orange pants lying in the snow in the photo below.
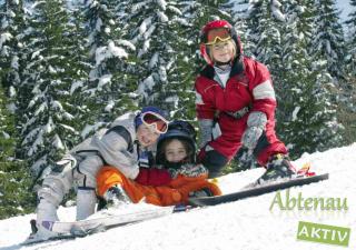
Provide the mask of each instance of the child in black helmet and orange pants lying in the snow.
{"label": "child in black helmet and orange pants lying in the snow", "polygon": [[[219,196],[220,189],[207,180],[208,170],[196,164],[196,132],[186,121],[174,121],[157,144],[157,168],[147,169],[139,179],[126,178],[117,168],[106,166],[97,176],[98,194],[108,203],[172,206],[187,203],[191,196]],[[161,169],[170,173],[161,174]]]}

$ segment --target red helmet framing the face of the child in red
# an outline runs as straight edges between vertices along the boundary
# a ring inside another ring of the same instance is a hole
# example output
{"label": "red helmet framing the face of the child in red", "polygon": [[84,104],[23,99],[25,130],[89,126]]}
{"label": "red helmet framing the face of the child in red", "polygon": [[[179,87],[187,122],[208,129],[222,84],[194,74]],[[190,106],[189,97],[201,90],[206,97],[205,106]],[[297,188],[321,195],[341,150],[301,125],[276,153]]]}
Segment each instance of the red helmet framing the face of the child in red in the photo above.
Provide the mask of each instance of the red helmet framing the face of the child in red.
{"label": "red helmet framing the face of the child in red", "polygon": [[208,22],[205,27],[201,29],[200,33],[200,53],[202,58],[206,60],[208,64],[214,64],[211,58],[209,57],[209,53],[207,52],[207,42],[208,42],[208,34],[210,30],[215,29],[226,29],[229,33],[229,37],[233,38],[237,46],[237,53],[241,53],[241,46],[240,46],[240,39],[237,36],[234,27],[226,20],[214,20]]}

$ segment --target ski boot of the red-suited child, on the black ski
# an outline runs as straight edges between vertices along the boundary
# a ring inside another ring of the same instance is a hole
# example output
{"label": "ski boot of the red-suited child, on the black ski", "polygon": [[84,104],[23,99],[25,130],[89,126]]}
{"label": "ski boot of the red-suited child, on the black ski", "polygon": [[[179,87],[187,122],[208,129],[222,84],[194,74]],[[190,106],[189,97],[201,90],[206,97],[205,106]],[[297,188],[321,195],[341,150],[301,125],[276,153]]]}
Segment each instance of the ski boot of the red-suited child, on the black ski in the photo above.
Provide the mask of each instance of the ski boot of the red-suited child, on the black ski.
{"label": "ski boot of the red-suited child, on the black ski", "polygon": [[258,178],[257,184],[271,182],[277,179],[288,179],[296,176],[296,169],[291,166],[289,158],[281,153],[270,157],[266,168],[266,172]]}

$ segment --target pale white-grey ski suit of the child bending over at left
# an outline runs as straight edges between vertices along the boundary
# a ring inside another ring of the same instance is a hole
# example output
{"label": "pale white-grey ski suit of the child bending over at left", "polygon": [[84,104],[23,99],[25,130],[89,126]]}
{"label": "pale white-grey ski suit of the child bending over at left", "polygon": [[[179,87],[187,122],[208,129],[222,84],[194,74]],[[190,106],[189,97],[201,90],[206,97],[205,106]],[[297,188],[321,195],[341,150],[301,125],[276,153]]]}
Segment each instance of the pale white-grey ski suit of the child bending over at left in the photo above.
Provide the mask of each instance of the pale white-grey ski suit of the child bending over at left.
{"label": "pale white-grey ski suit of the child bending over at left", "polygon": [[78,189],[95,190],[96,176],[103,164],[113,166],[127,178],[135,179],[139,173],[136,116],[129,112],[117,118],[109,129],[99,130],[71,149],[58,162],[58,170],[44,178],[38,190],[39,199],[43,198],[57,207],[73,184]]}

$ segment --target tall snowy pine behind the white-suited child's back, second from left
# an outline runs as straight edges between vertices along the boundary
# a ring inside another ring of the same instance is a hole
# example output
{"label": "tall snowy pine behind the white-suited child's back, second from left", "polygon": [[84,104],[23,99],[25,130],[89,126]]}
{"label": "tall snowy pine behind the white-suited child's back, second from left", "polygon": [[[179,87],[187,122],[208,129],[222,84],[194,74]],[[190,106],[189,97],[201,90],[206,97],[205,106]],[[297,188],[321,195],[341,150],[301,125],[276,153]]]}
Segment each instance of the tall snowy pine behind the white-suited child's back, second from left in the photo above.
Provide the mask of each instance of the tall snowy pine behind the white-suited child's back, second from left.
{"label": "tall snowy pine behind the white-suited child's back, second from left", "polygon": [[27,64],[19,88],[23,102],[22,158],[39,178],[77,140],[70,87],[77,73],[69,52],[73,48],[69,17],[62,0],[39,1],[27,28],[23,58]]}

